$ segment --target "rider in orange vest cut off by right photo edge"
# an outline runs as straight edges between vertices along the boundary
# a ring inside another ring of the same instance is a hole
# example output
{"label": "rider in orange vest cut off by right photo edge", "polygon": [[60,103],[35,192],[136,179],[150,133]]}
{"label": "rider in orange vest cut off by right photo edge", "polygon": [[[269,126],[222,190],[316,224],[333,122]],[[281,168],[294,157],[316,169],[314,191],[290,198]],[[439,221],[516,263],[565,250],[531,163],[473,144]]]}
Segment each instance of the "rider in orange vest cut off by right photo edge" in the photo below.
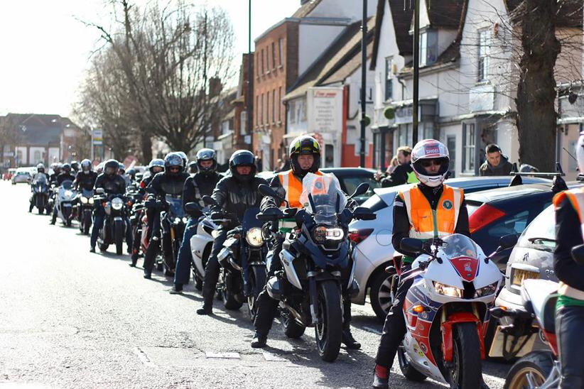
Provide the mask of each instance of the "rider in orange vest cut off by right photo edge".
{"label": "rider in orange vest cut off by right photo edge", "polygon": [[[584,131],[576,147],[578,171],[584,172]],[[572,248],[584,243],[584,190],[582,187],[558,193],[556,208],[556,250],[553,270],[560,281],[556,304],[556,334],[560,360],[558,388],[584,388],[584,354],[580,334],[584,328],[584,265],[574,261]]]}

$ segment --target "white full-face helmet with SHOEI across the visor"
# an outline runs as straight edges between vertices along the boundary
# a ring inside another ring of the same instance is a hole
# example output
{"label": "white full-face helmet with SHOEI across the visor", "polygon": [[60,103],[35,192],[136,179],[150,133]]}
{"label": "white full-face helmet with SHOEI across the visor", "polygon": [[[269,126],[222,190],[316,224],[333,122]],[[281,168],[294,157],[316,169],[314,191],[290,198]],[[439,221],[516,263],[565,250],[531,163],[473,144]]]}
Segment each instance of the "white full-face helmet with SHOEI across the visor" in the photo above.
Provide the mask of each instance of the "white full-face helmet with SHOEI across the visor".
{"label": "white full-face helmet with SHOEI across the visor", "polygon": [[[440,169],[436,173],[428,173],[426,168],[430,161],[440,162]],[[416,143],[411,150],[411,167],[416,177],[423,185],[428,187],[438,187],[446,179],[448,174],[448,164],[450,157],[448,156],[448,148],[443,143],[436,141],[436,139],[424,139]]]}

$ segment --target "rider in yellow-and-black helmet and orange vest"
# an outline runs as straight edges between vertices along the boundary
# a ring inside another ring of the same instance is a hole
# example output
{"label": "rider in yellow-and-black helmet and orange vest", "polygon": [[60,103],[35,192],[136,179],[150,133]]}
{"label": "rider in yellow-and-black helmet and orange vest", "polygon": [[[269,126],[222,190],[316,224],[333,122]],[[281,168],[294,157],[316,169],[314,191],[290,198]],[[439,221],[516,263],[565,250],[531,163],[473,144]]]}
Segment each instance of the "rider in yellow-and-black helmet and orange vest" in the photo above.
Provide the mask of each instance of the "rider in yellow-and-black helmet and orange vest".
{"label": "rider in yellow-and-black helmet and orange vest", "polygon": [[[291,160],[291,170],[279,172],[274,177],[270,186],[281,197],[288,200],[290,207],[303,208],[300,202],[302,193],[302,180],[309,172],[320,175],[320,146],[318,141],[312,136],[298,136],[290,144],[288,153]],[[261,211],[269,208],[278,208],[281,204],[274,197],[264,197],[261,202]],[[282,270],[280,261],[280,252],[282,250],[283,236],[274,241],[272,248],[273,256],[269,268],[269,277],[274,276],[276,272]],[[279,301],[272,299],[264,287],[257,299],[257,316],[254,322],[255,334],[252,339],[252,347],[261,348],[266,345],[268,333],[271,329],[274,317],[278,312]],[[351,300],[350,297],[343,297],[343,331],[342,343],[348,349],[359,349],[361,344],[353,338],[350,329],[351,323]]]}

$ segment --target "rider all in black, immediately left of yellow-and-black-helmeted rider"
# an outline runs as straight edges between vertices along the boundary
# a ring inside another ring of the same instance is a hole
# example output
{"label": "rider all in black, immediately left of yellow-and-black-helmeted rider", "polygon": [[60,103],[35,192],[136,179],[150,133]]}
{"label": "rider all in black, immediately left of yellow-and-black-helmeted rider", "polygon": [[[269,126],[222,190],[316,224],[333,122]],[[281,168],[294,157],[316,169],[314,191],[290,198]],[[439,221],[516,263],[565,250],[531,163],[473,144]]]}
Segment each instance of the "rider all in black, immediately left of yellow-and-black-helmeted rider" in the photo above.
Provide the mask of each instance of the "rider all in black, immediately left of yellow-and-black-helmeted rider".
{"label": "rider all in black, immediately left of yellow-and-black-helmeted rider", "polygon": [[[260,184],[267,184],[268,182],[263,178],[256,177],[256,170],[254,154],[250,151],[236,150],[231,155],[231,158],[229,158],[231,175],[223,177],[217,182],[217,187],[213,190],[212,198],[215,200],[216,205],[211,207],[212,219],[217,219],[217,214],[225,211],[234,214],[241,220],[248,208],[259,207],[261,195],[257,188]],[[237,221],[233,221],[228,225],[222,224],[217,230],[219,234],[213,242],[211,256],[205,266],[205,280],[203,280],[202,285],[203,304],[202,307],[197,309],[197,314],[212,313],[213,296],[215,296],[215,287],[220,273],[217,254],[227,239],[227,232],[236,226]]]}

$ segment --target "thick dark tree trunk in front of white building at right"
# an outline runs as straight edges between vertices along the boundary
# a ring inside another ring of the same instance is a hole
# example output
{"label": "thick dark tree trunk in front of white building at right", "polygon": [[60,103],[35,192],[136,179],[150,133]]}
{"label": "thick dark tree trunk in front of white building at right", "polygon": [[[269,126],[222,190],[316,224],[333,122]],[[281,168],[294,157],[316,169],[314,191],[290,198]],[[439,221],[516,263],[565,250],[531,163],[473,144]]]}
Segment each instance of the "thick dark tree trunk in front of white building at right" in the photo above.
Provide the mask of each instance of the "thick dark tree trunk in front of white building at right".
{"label": "thick dark tree trunk in front of white building at right", "polygon": [[555,171],[556,80],[561,50],[556,39],[556,1],[525,0],[521,16],[520,77],[517,88],[519,159],[541,171]]}

